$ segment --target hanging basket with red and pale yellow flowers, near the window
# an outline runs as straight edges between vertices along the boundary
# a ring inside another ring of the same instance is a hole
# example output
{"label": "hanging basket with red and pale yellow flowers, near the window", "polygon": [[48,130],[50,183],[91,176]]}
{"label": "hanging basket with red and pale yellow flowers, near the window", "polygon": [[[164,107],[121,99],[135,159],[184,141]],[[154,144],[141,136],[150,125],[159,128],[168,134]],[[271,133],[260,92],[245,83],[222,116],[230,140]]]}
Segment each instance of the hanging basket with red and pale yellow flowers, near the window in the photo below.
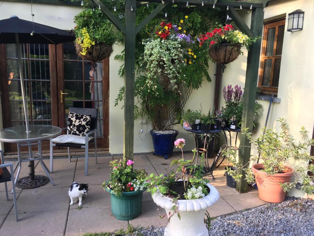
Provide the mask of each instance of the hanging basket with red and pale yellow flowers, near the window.
{"label": "hanging basket with red and pale yellow flowers, near the window", "polygon": [[199,37],[199,45],[205,43],[209,47],[209,57],[213,62],[220,63],[225,69],[225,64],[228,64],[235,59],[241,53],[241,47],[246,46],[248,49],[252,42],[256,39],[252,39],[247,35],[241,33],[232,25],[219,25],[211,32],[207,32]]}

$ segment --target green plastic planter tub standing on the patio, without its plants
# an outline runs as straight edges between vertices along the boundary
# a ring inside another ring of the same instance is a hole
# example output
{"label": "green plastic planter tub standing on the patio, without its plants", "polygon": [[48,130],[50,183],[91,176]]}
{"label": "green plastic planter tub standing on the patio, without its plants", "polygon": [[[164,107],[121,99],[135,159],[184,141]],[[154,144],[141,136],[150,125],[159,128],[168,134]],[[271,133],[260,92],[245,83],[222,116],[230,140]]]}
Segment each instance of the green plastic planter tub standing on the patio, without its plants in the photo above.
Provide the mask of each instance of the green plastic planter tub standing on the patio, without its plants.
{"label": "green plastic planter tub standing on the patio, without its plants", "polygon": [[143,192],[123,192],[120,197],[110,189],[105,188],[111,196],[111,212],[118,220],[128,221],[142,213]]}

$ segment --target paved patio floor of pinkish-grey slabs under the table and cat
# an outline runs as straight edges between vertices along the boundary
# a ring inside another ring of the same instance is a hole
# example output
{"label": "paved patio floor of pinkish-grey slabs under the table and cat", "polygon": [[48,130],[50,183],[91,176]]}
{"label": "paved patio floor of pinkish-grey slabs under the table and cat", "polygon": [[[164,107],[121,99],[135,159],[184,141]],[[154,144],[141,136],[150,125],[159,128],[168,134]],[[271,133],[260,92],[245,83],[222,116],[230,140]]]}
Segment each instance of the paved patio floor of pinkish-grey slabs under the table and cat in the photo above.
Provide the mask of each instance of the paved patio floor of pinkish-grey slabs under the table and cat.
{"label": "paved patio floor of pinkish-grey slabs under the table and cat", "polygon": [[[185,159],[192,153],[186,153]],[[84,176],[84,158],[55,159],[54,172],[51,174],[55,186],[51,183],[35,189],[17,190],[19,222],[15,222],[13,199],[6,201],[4,184],[0,184],[0,235],[82,235],[87,232],[110,232],[127,228],[128,224],[136,226],[166,226],[167,221],[160,219],[158,206],[153,202],[150,193],[143,194],[142,214],[131,221],[118,221],[111,214],[110,195],[104,191],[101,184],[110,177],[109,161],[120,156],[104,156],[89,158],[89,176]],[[149,173],[163,173],[171,170],[173,159],[180,158],[178,154],[164,160],[160,156],[150,154],[134,156],[134,167],[144,168]],[[209,159],[210,162],[213,159]],[[49,160],[45,160],[49,166]],[[28,175],[27,163],[23,163],[20,177]],[[35,168],[36,174],[45,175],[41,165]],[[219,191],[219,201],[208,208],[211,217],[225,215],[243,209],[249,209],[265,202],[258,198],[257,190],[249,188],[248,193],[239,194],[235,189],[225,184],[224,166],[215,169],[213,180],[209,178]],[[73,182],[89,183],[88,196],[83,199],[82,209],[78,203],[70,206],[68,188]],[[11,188],[11,184],[8,184]]]}

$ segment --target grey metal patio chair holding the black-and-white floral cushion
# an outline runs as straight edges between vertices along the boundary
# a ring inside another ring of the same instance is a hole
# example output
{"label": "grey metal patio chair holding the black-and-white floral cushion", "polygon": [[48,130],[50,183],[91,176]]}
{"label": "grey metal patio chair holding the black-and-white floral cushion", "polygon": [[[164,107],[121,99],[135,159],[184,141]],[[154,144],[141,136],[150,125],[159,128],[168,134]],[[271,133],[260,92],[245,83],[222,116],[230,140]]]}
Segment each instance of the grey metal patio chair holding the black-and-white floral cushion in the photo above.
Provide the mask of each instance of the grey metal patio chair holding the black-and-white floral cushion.
{"label": "grey metal patio chair holding the black-and-white floral cushion", "polygon": [[[98,109],[97,108],[77,108],[77,107],[70,107],[69,112],[73,112],[80,115],[90,115],[90,129],[89,132],[85,135],[85,143],[84,144],[77,144],[77,143],[54,143],[52,139],[50,139],[50,172],[53,172],[53,147],[68,147],[68,155],[69,161],[71,162],[71,155],[70,155],[70,148],[84,148],[85,149],[85,176],[88,175],[88,146],[90,143],[94,142],[95,147],[95,158],[97,164],[97,119],[98,119]],[[62,128],[62,130],[68,130],[68,128]],[[67,134],[69,131],[67,131]],[[91,136],[93,134],[93,136]],[[79,136],[78,136],[79,137]],[[89,138],[92,138],[89,140]]]}

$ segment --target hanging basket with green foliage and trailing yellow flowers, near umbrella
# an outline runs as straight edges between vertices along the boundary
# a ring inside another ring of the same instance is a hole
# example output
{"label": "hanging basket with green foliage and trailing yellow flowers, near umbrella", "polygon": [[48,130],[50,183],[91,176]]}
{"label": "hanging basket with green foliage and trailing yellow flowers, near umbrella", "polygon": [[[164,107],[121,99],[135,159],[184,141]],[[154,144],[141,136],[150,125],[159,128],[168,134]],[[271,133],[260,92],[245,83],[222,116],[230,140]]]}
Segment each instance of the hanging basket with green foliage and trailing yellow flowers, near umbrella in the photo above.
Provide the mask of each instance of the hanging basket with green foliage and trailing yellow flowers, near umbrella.
{"label": "hanging basket with green foliage and trailing yellow flowers, near umbrella", "polygon": [[122,33],[98,8],[81,11],[74,22],[76,53],[85,60],[95,63],[109,57],[113,44],[122,41]]}

